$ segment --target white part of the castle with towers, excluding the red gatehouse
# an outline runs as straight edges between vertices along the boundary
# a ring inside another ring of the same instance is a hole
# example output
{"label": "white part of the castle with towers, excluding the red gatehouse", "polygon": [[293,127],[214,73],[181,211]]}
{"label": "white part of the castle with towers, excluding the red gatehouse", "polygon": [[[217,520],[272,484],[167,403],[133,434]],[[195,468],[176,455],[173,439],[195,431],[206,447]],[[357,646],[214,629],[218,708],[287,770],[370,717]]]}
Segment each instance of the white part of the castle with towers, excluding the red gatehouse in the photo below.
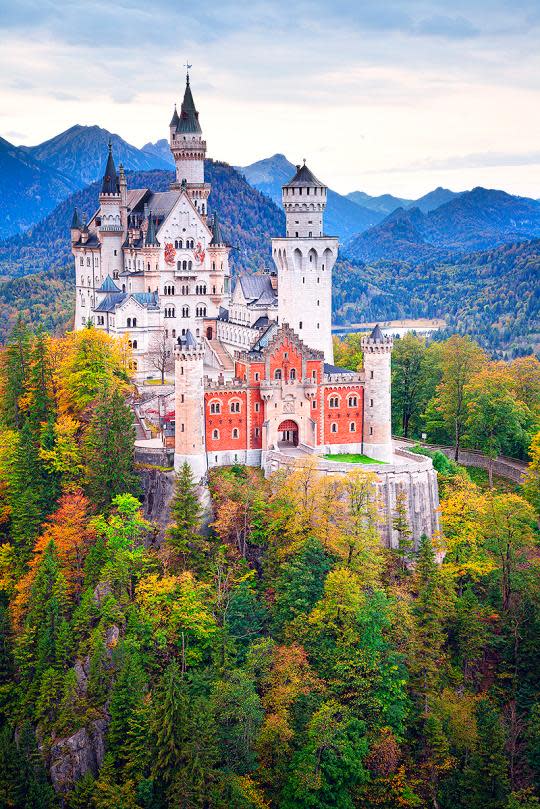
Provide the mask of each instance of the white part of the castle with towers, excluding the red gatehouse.
{"label": "white part of the castle with towers, excluding the red gatehouse", "polygon": [[75,211],[75,329],[93,323],[128,335],[139,382],[159,377],[164,347],[172,357],[177,339],[188,331],[204,340],[218,370],[232,371],[234,351],[250,348],[269,321],[288,323],[332,362],[338,243],[323,235],[326,187],[304,165],[283,189],[287,237],[273,240],[279,298],[270,273],[240,277],[231,296],[231,248],[217,214],[208,215],[206,141],[189,75],[180,114],[175,108],[169,125],[169,143],[176,167],[169,191],[128,189],[109,145],[99,210],[89,222]]}

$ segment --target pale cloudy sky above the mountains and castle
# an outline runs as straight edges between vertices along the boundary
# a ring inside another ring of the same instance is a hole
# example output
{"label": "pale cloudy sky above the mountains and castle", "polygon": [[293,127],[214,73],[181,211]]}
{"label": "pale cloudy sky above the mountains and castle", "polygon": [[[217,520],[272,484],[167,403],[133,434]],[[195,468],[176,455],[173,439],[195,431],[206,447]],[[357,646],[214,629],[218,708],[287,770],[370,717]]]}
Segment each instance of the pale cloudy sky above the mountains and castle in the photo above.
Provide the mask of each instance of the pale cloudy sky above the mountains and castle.
{"label": "pale cloudy sky above the mountains and castle", "polygon": [[0,0],[0,135],[168,136],[186,61],[208,155],[347,193],[540,198],[540,0]]}

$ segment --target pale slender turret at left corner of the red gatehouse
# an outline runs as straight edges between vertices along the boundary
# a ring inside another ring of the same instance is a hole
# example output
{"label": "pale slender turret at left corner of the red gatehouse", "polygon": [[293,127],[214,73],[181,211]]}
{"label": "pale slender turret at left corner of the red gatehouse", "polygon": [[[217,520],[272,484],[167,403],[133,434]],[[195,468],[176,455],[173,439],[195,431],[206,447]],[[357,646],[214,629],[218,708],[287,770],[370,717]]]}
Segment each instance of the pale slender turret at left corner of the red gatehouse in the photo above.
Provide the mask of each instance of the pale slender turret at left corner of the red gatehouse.
{"label": "pale slender turret at left corner of the red gatehouse", "polygon": [[198,482],[207,471],[204,429],[204,348],[191,331],[179,338],[175,360],[174,468],[187,461]]}

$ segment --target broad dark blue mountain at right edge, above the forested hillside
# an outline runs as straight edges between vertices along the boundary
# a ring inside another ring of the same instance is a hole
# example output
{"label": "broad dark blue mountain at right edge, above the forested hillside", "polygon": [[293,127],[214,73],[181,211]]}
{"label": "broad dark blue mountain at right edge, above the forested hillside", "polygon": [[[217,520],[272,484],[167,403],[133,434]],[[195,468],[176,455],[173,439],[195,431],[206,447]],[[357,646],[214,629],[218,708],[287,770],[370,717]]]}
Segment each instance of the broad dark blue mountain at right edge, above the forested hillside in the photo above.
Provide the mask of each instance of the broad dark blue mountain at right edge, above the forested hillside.
{"label": "broad dark blue mountain at right edge, above the forested hillside", "polygon": [[504,191],[474,188],[429,213],[398,208],[352,239],[347,254],[360,261],[438,260],[540,235],[540,204]]}

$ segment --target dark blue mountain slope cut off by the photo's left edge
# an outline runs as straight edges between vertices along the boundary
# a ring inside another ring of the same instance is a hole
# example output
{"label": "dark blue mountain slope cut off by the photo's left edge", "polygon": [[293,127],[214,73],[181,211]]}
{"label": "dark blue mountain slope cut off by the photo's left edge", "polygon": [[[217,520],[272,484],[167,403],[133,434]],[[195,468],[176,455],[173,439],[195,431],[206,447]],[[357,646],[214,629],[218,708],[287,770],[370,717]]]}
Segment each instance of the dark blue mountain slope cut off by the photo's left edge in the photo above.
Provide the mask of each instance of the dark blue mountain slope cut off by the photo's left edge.
{"label": "dark blue mountain slope cut off by the photo's left edge", "polygon": [[0,138],[0,238],[43,218],[75,188],[70,178]]}

